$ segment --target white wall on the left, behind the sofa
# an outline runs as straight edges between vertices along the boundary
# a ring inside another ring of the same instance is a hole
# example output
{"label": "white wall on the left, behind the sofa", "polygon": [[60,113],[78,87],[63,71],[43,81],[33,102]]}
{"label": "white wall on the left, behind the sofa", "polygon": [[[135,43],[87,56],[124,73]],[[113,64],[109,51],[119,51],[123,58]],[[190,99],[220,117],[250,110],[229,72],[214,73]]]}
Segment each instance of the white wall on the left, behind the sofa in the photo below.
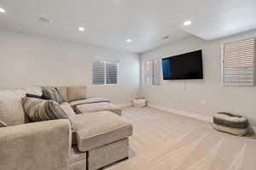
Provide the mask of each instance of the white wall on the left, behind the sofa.
{"label": "white wall on the left, behind the sofa", "polygon": [[[119,84],[93,86],[92,55],[119,59]],[[139,90],[137,54],[0,31],[0,89],[30,85],[87,85],[89,96],[126,104]]]}

